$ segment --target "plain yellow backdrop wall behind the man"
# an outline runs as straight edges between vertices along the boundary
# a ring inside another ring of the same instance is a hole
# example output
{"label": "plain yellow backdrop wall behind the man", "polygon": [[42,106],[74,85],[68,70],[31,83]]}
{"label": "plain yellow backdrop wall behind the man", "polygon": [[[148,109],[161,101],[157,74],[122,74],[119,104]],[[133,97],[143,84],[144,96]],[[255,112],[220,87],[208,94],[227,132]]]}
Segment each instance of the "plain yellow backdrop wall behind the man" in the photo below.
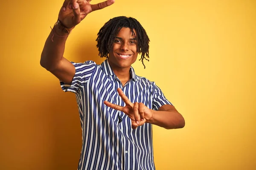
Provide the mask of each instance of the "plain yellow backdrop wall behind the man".
{"label": "plain yellow backdrop wall behind the man", "polygon": [[[93,0],[92,3],[98,3]],[[81,148],[76,99],[39,64],[62,0],[1,2],[0,169],[75,170]],[[156,82],[186,126],[154,126],[157,170],[256,169],[256,0],[116,0],[87,16],[64,56],[98,57],[110,18],[137,18],[150,61],[133,66]]]}

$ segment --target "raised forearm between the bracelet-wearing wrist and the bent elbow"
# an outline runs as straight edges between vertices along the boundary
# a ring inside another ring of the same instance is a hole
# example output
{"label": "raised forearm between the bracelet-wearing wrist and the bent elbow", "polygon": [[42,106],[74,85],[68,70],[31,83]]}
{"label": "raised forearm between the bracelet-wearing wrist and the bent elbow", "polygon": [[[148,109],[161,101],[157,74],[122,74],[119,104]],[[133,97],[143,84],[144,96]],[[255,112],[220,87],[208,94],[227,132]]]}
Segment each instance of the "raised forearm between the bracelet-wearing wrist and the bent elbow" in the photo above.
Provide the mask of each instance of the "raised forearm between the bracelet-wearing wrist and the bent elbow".
{"label": "raised forearm between the bracelet-wearing wrist and the bent elbow", "polygon": [[52,29],[41,54],[40,64],[42,67],[50,71],[58,65],[64,54],[68,34],[59,26]]}

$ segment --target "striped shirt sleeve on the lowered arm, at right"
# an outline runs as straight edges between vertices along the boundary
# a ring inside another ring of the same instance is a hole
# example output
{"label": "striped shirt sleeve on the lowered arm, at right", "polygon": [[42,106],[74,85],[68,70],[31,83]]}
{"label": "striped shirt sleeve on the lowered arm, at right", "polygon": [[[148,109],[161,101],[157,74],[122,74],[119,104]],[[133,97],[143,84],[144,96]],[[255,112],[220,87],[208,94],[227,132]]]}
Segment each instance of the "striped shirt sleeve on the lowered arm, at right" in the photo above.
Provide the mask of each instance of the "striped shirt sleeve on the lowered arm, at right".
{"label": "striped shirt sleeve on the lowered arm, at right", "polygon": [[157,111],[163,105],[172,105],[172,103],[166,99],[161,89],[154,82],[153,92],[153,110]]}

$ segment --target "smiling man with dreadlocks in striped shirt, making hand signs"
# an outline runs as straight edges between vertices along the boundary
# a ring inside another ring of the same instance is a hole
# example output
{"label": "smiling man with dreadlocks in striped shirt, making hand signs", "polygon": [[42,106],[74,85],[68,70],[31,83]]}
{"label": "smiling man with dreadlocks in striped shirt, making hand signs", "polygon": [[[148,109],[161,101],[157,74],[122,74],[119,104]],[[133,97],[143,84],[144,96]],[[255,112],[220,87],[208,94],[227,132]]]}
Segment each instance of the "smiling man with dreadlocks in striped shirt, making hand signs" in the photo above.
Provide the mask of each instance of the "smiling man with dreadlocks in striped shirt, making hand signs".
{"label": "smiling man with dreadlocks in striped shirt, making hand signs", "polygon": [[[149,39],[134,18],[115,17],[100,29],[101,65],[69,62],[63,57],[71,30],[92,11],[114,3],[65,0],[41,55],[41,65],[76,94],[82,127],[79,170],[152,170],[152,124],[182,128],[183,117],[154,82],[131,67],[140,53],[148,57]],[[143,64],[144,65],[144,64]]]}

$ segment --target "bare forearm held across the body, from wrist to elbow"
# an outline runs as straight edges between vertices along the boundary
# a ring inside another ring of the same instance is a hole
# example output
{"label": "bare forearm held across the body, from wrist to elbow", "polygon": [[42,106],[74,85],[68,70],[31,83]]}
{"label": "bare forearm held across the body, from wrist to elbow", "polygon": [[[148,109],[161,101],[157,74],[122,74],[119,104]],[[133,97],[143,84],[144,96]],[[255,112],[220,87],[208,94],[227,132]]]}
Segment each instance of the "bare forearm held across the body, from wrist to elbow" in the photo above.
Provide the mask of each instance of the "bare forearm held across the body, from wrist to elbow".
{"label": "bare forearm held across the body, from wrist to elbow", "polygon": [[147,122],[166,129],[177,129],[185,126],[183,116],[177,111],[154,111],[152,117]]}

